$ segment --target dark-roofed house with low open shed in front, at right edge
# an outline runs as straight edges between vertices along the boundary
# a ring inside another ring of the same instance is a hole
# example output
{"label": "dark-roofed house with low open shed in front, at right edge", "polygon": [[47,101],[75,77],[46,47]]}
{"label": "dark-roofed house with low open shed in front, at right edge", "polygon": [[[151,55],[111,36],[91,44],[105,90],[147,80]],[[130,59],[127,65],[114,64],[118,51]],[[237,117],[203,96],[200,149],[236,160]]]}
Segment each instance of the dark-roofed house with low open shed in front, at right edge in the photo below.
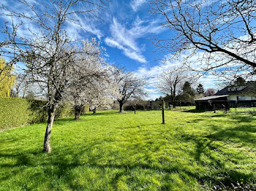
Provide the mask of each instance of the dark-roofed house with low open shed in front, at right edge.
{"label": "dark-roofed house with low open shed in front, at right edge", "polygon": [[228,85],[213,96],[195,99],[196,108],[213,110],[214,105],[216,109],[228,109],[237,106],[256,106],[256,98],[252,93],[256,91],[255,87],[255,82]]}

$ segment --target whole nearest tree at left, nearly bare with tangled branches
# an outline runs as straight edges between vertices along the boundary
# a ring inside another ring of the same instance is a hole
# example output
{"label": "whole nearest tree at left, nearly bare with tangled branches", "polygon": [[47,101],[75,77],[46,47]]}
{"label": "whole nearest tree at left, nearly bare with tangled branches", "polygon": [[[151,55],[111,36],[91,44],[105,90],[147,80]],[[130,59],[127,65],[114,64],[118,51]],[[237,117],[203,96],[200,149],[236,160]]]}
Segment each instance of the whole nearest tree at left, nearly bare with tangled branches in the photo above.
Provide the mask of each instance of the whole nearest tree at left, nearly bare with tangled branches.
{"label": "whole nearest tree at left, nearly bare with tangled branches", "polygon": [[[47,97],[48,124],[43,150],[50,152],[50,135],[56,109],[70,85],[73,66],[78,63],[75,58],[80,53],[73,45],[74,40],[67,35],[67,23],[78,22],[73,17],[75,14],[93,15],[101,5],[95,1],[57,0],[48,1],[41,9],[40,4],[29,4],[26,0],[17,3],[23,4],[29,13],[1,7],[2,14],[12,19],[12,23],[7,24],[3,31],[8,40],[5,47],[1,48],[1,53],[10,56],[14,62],[24,63],[30,78],[38,83]],[[97,8],[83,9],[89,4]],[[37,31],[29,30],[29,34],[20,34],[18,28],[23,23],[15,23],[17,19],[26,20]]]}

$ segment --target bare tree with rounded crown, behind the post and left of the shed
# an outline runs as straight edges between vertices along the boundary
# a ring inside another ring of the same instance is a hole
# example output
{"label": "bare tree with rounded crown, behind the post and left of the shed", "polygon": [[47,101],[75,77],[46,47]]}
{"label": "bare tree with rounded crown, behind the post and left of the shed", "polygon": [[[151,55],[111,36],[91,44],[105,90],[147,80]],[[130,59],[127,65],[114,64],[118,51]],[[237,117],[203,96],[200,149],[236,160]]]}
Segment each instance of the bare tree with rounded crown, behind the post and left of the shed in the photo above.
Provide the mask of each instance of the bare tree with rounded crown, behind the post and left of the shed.
{"label": "bare tree with rounded crown, behind the post and left of the shed", "polygon": [[159,77],[157,88],[161,93],[170,95],[173,107],[176,107],[176,96],[181,93],[184,82],[188,79],[187,71],[173,68],[163,72],[162,76]]}

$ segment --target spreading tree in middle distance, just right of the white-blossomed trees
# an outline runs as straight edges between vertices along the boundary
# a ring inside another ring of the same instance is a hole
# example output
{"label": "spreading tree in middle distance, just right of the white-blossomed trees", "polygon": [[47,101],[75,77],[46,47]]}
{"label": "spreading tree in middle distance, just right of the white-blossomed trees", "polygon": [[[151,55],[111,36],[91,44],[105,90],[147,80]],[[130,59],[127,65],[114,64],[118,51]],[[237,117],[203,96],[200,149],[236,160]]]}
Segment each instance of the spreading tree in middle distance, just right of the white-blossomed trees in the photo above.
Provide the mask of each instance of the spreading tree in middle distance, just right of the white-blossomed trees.
{"label": "spreading tree in middle distance, just right of the white-blossomed trees", "polygon": [[119,112],[124,111],[124,104],[130,98],[140,98],[146,96],[147,93],[143,89],[146,85],[146,80],[143,78],[135,77],[132,72],[125,73],[123,69],[117,69],[113,72],[113,81],[118,90],[117,94],[113,97],[119,103]]}

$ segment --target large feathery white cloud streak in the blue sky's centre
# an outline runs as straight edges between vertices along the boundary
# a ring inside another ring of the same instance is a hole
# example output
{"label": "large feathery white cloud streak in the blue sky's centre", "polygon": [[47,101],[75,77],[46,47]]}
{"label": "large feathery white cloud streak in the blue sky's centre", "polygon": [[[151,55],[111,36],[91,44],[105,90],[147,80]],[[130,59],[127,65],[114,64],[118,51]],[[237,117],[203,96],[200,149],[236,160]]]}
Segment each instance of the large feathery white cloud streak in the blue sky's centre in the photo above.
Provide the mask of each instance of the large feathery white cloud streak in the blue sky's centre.
{"label": "large feathery white cloud streak in the blue sky's centre", "polygon": [[162,31],[162,27],[157,25],[157,22],[146,22],[136,18],[132,23],[131,28],[118,23],[116,18],[113,18],[113,23],[110,25],[111,36],[105,38],[105,43],[110,47],[116,47],[123,50],[124,55],[132,60],[140,63],[146,63],[146,58],[143,56],[143,45],[138,45],[138,39],[146,34],[157,34]]}

